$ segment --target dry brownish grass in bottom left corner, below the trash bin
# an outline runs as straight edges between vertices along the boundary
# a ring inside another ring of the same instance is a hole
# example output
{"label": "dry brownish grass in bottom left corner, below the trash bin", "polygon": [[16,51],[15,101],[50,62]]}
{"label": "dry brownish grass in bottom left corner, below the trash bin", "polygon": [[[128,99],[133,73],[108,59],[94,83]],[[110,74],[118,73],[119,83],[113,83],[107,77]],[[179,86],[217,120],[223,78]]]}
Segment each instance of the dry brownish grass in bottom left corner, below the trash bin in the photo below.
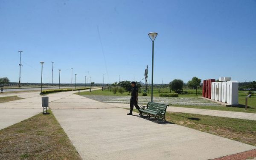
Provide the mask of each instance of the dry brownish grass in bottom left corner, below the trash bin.
{"label": "dry brownish grass in bottom left corner, below the trash bin", "polygon": [[0,160],[81,160],[54,115],[37,114],[0,130]]}

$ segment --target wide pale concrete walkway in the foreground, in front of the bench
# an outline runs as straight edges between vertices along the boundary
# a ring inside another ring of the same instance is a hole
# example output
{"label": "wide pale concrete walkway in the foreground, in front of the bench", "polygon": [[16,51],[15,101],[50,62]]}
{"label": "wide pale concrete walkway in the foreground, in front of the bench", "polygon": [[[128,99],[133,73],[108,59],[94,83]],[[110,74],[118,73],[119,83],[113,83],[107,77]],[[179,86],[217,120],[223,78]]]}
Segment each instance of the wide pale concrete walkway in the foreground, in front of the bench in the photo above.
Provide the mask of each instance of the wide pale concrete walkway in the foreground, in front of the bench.
{"label": "wide pale concrete walkway in the foreground, in front of the bench", "polygon": [[50,103],[84,160],[208,160],[256,149],[176,124],[127,116],[119,107],[78,95]]}

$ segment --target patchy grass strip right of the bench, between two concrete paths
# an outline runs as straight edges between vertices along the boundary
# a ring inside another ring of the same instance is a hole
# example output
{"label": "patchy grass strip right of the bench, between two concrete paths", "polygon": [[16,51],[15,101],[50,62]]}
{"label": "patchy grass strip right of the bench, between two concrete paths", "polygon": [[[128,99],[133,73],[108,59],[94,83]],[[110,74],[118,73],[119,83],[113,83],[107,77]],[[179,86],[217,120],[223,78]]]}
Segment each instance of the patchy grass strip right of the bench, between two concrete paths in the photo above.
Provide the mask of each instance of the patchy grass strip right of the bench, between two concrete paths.
{"label": "patchy grass strip right of the bench, between two concrete paths", "polygon": [[[135,112],[138,112],[134,109]],[[167,112],[166,121],[256,146],[256,121]]]}

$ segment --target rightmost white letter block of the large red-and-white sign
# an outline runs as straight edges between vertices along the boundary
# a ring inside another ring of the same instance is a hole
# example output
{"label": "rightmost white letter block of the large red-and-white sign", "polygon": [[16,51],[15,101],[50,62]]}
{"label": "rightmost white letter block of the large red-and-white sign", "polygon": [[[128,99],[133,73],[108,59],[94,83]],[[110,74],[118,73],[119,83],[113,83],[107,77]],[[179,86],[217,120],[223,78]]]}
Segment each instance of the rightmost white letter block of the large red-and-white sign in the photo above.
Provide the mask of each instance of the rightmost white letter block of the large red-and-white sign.
{"label": "rightmost white letter block of the large red-and-white sign", "polygon": [[238,105],[238,82],[227,82],[227,104]]}

